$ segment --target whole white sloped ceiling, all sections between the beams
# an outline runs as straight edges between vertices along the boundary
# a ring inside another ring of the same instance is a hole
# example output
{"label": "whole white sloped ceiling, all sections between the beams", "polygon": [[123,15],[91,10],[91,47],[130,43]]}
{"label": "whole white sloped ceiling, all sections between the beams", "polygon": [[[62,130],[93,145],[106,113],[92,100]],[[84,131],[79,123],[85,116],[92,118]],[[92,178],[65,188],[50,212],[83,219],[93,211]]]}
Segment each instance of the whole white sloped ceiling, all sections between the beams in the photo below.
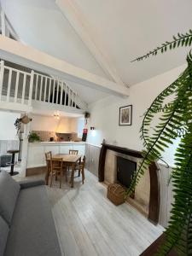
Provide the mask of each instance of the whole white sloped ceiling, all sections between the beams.
{"label": "whole white sloped ceiling, all sections between the beams", "polygon": [[[6,15],[26,44],[110,79],[54,0],[2,1]],[[185,62],[189,49],[177,49],[147,61],[131,60],[171,40],[177,32],[188,32],[192,24],[191,0],[72,1],[87,20],[91,38],[99,49],[104,49],[108,62],[125,84],[137,84]],[[79,84],[72,85],[85,102],[107,96]]]}

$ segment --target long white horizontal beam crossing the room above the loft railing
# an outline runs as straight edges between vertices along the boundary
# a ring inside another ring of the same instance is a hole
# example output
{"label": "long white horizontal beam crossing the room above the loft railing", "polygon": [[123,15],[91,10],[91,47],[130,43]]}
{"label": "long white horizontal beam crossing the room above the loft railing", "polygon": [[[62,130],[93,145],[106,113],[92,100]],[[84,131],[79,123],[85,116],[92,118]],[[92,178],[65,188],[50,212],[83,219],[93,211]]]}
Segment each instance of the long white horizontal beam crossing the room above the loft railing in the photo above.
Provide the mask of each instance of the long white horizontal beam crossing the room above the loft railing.
{"label": "long white horizontal beam crossing the room above the loft railing", "polygon": [[56,59],[38,49],[3,36],[0,36],[0,57],[6,61],[12,61],[42,73],[49,73],[67,81],[102,90],[114,96],[129,96],[129,89],[123,85],[89,73],[67,61]]}

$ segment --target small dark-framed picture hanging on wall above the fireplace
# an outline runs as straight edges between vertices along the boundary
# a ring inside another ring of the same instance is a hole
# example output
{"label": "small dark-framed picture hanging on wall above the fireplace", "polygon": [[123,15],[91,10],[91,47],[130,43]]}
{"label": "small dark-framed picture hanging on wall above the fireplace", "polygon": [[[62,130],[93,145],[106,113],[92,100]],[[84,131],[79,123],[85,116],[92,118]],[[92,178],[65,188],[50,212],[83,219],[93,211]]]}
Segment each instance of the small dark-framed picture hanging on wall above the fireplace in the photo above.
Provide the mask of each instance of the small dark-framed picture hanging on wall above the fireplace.
{"label": "small dark-framed picture hanging on wall above the fireplace", "polygon": [[132,124],[132,105],[119,108],[119,125]]}

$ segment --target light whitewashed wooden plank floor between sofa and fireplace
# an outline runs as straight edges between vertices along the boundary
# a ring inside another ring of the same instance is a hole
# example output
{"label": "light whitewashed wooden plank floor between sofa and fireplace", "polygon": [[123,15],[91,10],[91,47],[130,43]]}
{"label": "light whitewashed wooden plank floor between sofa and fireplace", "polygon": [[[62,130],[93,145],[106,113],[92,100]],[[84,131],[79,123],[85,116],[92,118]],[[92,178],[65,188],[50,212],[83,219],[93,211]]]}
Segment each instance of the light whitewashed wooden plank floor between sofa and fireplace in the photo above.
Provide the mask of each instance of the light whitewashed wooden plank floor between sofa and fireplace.
{"label": "light whitewashed wooden plank floor between sofa and fireplace", "polygon": [[47,190],[65,256],[139,255],[163,230],[127,204],[113,206],[88,171],[84,185],[77,177],[73,189],[67,183],[58,188],[54,183]]}

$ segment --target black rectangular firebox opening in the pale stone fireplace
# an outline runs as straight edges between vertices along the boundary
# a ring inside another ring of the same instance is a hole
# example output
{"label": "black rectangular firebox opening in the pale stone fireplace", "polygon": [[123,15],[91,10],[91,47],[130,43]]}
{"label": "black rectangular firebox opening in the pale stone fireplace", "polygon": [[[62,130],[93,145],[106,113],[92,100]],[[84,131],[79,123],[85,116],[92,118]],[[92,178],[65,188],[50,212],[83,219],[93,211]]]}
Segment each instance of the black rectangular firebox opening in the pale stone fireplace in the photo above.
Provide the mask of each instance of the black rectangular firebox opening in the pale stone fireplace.
{"label": "black rectangular firebox opening in the pale stone fireplace", "polygon": [[136,170],[136,162],[117,156],[117,180],[123,186],[126,188],[130,187],[132,177]]}

